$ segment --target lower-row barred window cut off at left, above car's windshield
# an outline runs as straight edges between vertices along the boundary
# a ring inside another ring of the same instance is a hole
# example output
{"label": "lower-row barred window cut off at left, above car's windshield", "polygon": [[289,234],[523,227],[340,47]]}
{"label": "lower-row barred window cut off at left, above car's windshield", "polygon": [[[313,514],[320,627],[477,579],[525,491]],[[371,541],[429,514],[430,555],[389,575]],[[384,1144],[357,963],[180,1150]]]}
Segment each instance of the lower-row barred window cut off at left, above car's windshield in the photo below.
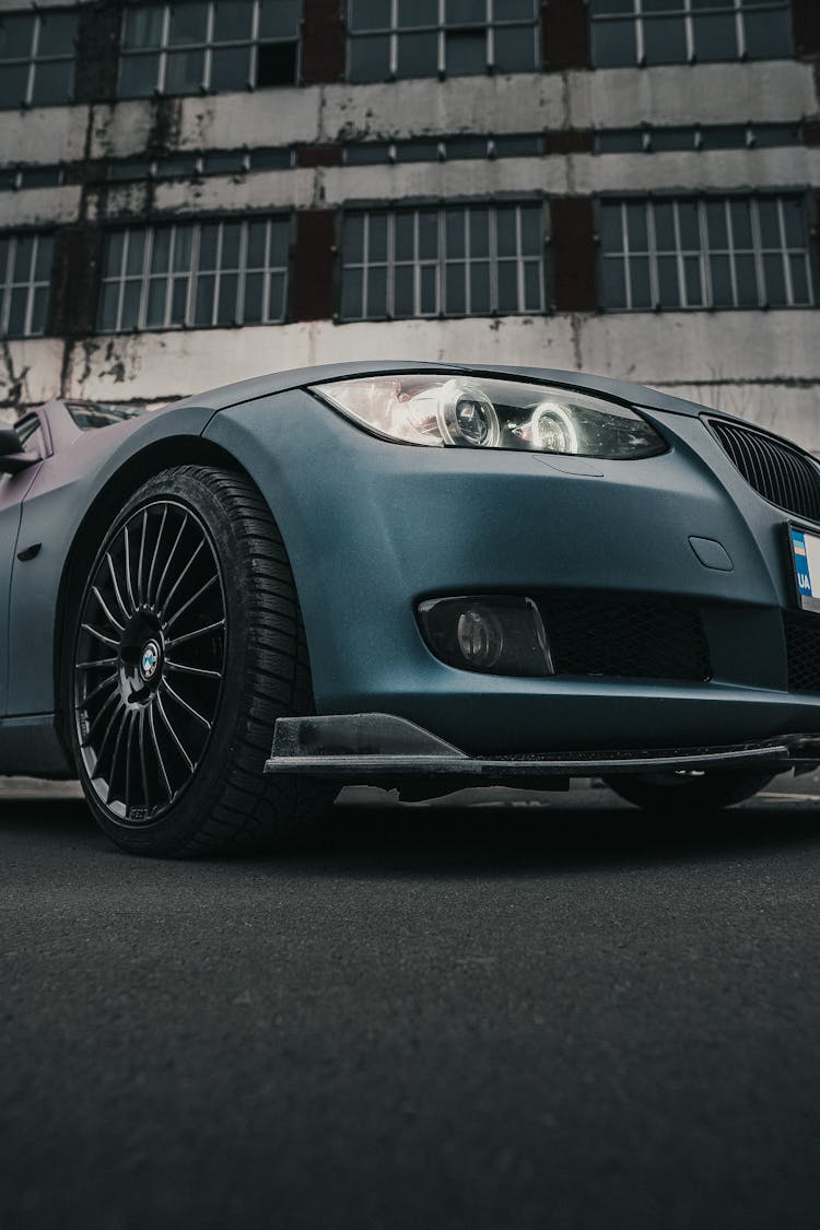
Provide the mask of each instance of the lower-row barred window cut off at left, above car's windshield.
{"label": "lower-row barred window cut off at left, above car's windshield", "polygon": [[53,256],[53,235],[0,235],[0,337],[45,332]]}

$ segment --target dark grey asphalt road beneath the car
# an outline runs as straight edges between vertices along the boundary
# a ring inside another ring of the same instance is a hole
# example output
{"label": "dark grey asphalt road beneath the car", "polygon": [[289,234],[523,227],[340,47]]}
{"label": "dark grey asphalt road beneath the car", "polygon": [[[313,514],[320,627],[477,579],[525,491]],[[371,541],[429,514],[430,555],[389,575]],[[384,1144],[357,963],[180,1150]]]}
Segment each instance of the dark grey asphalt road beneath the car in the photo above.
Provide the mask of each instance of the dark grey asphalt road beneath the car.
{"label": "dark grey asphalt road beneath the car", "polygon": [[814,1230],[819,882],[816,777],[204,863],[7,793],[0,1226]]}

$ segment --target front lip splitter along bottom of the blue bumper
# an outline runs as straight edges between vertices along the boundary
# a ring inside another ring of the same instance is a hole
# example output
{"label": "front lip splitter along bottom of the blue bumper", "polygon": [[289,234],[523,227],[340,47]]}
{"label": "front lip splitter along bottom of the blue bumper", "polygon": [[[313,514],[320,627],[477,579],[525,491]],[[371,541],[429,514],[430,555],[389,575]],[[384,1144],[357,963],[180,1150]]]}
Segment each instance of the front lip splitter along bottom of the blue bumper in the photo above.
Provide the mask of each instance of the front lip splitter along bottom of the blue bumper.
{"label": "front lip splitter along bottom of the blue bumper", "polygon": [[820,763],[820,736],[784,736],[762,743],[471,756],[430,731],[390,713],[280,717],[264,771],[332,777],[370,785],[388,779],[468,777],[482,785],[537,777],[589,777],[675,769],[761,768],[808,770]]}

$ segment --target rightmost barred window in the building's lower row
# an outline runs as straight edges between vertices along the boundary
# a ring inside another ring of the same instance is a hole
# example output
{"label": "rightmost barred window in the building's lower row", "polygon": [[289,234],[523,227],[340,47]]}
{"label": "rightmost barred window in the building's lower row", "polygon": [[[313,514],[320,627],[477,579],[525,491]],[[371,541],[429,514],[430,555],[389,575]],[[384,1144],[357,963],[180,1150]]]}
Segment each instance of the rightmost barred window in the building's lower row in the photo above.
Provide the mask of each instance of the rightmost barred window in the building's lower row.
{"label": "rightmost barred window in the building's lower row", "polygon": [[808,230],[800,197],[604,202],[604,304],[809,306]]}

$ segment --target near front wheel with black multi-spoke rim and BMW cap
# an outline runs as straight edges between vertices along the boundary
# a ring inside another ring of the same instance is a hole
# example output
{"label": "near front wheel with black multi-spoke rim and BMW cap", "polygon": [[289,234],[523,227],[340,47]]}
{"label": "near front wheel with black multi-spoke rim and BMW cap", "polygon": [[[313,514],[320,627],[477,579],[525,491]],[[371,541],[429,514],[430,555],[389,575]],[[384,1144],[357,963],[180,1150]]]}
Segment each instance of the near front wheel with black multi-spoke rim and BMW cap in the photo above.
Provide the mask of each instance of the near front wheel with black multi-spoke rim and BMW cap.
{"label": "near front wheel with black multi-spoke rim and BMW cap", "polygon": [[125,850],[293,844],[332,801],[263,774],[275,720],[313,699],[288,555],[246,477],[186,465],[140,487],[90,568],[70,654],[80,781]]}

